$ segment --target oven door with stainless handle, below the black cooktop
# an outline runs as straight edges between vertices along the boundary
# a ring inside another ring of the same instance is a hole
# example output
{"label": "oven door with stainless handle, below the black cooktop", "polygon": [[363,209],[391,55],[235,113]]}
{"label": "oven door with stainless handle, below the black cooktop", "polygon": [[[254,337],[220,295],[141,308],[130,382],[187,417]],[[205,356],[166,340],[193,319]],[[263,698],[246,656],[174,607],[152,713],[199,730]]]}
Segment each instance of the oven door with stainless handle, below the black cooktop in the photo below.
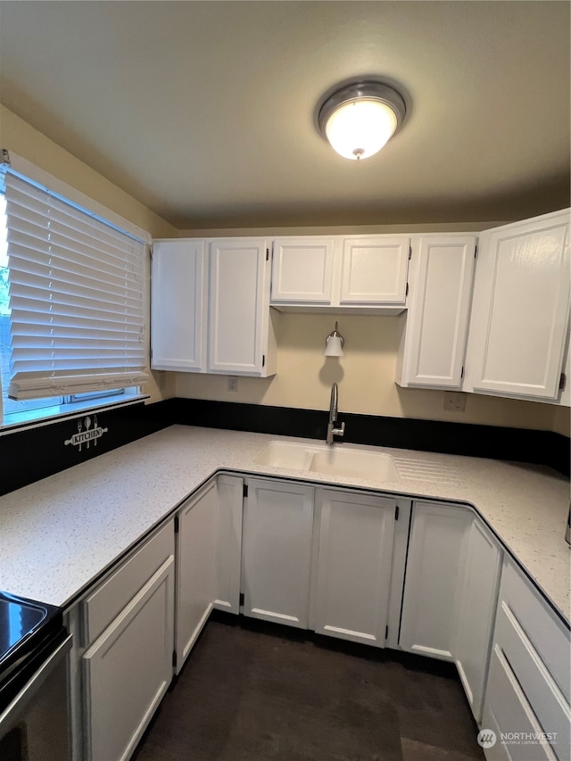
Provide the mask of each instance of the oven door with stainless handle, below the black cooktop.
{"label": "oven door with stainless handle, below the black cooktop", "polygon": [[67,761],[70,757],[67,653],[71,634],[51,643],[41,662],[0,714],[2,761]]}

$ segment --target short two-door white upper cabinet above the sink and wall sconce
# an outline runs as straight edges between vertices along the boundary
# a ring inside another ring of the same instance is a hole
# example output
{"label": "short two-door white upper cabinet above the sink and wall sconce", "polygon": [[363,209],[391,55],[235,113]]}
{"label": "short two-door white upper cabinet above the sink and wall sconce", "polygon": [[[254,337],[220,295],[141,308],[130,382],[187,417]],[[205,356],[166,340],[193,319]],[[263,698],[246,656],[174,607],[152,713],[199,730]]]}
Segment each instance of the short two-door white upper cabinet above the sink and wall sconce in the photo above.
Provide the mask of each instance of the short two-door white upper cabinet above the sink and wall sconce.
{"label": "short two-door white upper cabinet above the sink and wall sconce", "polygon": [[409,236],[276,238],[270,303],[279,310],[403,310]]}

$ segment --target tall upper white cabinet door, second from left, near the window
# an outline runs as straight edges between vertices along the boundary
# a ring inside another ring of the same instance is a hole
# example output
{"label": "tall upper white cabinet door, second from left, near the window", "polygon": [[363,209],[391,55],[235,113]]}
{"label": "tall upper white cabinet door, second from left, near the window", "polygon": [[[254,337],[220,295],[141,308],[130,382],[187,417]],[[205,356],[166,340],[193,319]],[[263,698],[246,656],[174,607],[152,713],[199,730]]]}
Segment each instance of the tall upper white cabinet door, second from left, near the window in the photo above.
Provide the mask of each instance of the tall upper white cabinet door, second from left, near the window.
{"label": "tall upper white cabinet door, second from left, near the window", "polygon": [[[210,244],[208,370],[268,376],[269,249],[265,240]],[[268,361],[267,361],[268,360]]]}

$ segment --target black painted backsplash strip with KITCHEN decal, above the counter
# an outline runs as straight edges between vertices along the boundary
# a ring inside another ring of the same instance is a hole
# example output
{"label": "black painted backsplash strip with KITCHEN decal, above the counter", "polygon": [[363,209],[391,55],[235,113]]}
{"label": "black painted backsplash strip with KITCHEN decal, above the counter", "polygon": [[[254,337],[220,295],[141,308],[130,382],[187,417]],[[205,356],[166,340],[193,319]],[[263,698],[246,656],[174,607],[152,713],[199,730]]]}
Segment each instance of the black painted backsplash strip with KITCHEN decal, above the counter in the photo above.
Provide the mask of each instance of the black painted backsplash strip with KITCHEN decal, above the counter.
{"label": "black painted backsplash strip with KITCHEN decal, above the counter", "polygon": [[[87,417],[91,418],[89,426],[93,431],[93,416],[86,413],[82,416],[83,421]],[[97,426],[107,430],[99,438],[82,442],[81,447],[79,443],[71,443],[73,434],[79,432],[78,418],[56,421],[0,436],[0,494],[78,465],[173,423],[325,441],[327,418],[327,411],[260,404],[195,399],[170,399],[147,405],[141,402],[98,413]],[[345,443],[510,459],[547,465],[569,475],[569,439],[549,431],[352,413],[339,413],[339,419],[345,422]],[[85,434],[85,422],[81,428],[81,433]]]}

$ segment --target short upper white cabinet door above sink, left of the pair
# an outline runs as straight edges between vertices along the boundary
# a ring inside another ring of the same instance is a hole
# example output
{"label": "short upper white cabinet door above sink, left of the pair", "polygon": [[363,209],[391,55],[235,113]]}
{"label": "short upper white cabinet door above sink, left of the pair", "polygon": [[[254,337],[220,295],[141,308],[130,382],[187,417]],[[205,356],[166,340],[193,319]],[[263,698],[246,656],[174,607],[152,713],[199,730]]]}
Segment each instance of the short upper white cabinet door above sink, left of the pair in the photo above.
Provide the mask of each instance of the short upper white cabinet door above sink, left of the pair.
{"label": "short upper white cabinet door above sink, left of the pair", "polygon": [[331,303],[333,238],[276,238],[271,302]]}

